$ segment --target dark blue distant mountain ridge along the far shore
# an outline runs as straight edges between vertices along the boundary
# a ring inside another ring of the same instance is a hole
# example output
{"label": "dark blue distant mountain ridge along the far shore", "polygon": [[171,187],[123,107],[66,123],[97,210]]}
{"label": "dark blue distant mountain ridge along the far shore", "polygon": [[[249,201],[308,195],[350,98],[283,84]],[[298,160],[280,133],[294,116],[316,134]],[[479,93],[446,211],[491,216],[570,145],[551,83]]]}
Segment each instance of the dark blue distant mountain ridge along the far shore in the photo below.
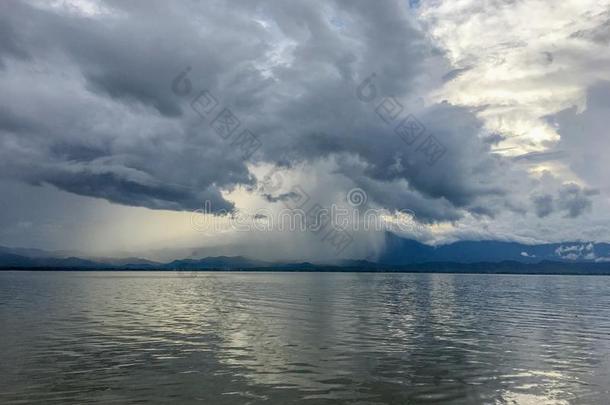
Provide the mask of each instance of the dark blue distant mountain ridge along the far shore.
{"label": "dark blue distant mountain ridge along the far shore", "polygon": [[[116,269],[116,270],[319,270],[321,268],[391,269],[392,267],[443,267],[448,265],[487,265],[519,263],[526,265],[548,264],[598,264],[610,268],[610,244],[593,242],[564,242],[525,245],[502,241],[460,241],[441,246],[430,246],[414,240],[386,234],[384,252],[375,262],[366,260],[341,260],[332,264],[309,262],[268,262],[244,256],[216,256],[200,259],[179,259],[158,263],[137,257],[94,258],[58,257],[56,252],[38,249],[0,247],[2,269]],[[460,267],[460,266],[456,266]],[[464,266],[461,266],[464,268]],[[468,266],[466,266],[468,267]],[[476,266],[471,266],[476,267]],[[564,266],[565,267],[565,266]]]}

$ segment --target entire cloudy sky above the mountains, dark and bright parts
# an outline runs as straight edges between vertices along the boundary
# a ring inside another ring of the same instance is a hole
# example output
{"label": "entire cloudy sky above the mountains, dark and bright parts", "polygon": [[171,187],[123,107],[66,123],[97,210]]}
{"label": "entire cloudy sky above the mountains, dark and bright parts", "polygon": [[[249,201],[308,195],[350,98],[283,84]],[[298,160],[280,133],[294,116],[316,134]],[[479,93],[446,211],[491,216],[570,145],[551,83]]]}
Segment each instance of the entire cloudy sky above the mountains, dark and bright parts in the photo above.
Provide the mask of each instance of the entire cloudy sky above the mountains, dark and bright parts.
{"label": "entire cloudy sky above the mountains, dark and bright parts", "polygon": [[4,246],[610,241],[610,0],[7,0],[0,94]]}

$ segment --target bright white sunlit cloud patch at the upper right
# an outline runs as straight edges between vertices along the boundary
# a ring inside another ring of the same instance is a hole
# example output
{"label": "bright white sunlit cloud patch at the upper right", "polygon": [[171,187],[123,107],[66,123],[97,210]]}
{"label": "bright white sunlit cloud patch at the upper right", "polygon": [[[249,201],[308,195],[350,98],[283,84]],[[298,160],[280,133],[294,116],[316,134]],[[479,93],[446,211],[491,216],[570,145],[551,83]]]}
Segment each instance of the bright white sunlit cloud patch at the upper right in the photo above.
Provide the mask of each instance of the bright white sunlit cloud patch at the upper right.
{"label": "bright white sunlit cloud patch at the upper right", "polygon": [[[455,69],[437,99],[481,108],[486,127],[508,138],[507,154],[542,151],[559,140],[545,116],[610,79],[608,38],[592,30],[609,18],[607,0],[432,0],[422,18]],[[597,38],[597,40],[596,40]]]}

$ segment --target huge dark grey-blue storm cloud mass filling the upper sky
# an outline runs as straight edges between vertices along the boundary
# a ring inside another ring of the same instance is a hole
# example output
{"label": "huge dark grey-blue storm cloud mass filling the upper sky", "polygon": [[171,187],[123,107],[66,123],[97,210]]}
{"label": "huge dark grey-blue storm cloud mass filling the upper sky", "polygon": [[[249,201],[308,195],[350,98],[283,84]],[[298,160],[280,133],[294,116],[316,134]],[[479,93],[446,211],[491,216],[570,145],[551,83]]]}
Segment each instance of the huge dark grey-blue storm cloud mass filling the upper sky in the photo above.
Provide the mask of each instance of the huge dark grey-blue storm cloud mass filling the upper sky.
{"label": "huge dark grey-blue storm cloud mass filling the upper sky", "polygon": [[[12,58],[0,80],[9,95],[0,105],[3,176],[127,205],[182,210],[210,200],[220,210],[231,208],[221,190],[254,184],[248,163],[335,158],[377,204],[424,221],[514,209],[506,190],[524,176],[490,153],[493,135],[473,113],[417,103],[456,72],[403,1],[102,5],[107,14],[84,17],[3,4],[0,60]],[[187,66],[192,92],[176,95],[171,82]],[[373,73],[377,97],[365,103],[356,89]],[[249,162],[191,109],[203,89],[261,140]],[[385,97],[402,100],[442,143],[442,159],[429,165],[396,135],[398,122],[378,116]],[[570,212],[586,209],[565,199]]]}

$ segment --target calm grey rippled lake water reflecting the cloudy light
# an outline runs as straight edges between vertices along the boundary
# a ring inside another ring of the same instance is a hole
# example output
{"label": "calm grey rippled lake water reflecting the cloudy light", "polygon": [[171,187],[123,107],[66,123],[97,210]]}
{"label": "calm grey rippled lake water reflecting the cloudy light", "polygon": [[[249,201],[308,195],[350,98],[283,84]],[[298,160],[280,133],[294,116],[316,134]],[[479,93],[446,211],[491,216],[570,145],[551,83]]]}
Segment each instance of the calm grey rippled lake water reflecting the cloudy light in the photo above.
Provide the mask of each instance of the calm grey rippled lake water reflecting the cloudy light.
{"label": "calm grey rippled lake water reflecting the cloudy light", "polygon": [[0,322],[0,403],[610,399],[610,277],[0,272]]}

